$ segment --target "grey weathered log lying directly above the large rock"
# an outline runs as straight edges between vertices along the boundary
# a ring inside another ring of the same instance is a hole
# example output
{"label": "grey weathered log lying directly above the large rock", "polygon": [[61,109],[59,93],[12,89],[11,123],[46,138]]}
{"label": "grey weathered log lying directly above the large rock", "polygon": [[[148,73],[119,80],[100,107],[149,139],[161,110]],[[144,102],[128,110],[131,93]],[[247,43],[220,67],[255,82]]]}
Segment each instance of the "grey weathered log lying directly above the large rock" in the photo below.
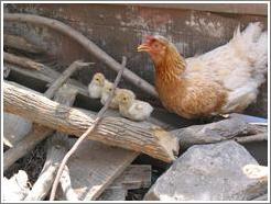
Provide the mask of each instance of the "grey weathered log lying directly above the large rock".
{"label": "grey weathered log lying directly above the large rock", "polygon": [[[238,137],[237,141],[245,143],[241,137],[261,133],[267,133],[267,127],[252,125],[237,117],[205,125],[192,125],[171,132],[178,138],[183,148],[188,148],[193,145],[218,143],[236,137]],[[259,137],[254,137],[254,139],[259,140]],[[252,136],[249,141],[252,141]]]}

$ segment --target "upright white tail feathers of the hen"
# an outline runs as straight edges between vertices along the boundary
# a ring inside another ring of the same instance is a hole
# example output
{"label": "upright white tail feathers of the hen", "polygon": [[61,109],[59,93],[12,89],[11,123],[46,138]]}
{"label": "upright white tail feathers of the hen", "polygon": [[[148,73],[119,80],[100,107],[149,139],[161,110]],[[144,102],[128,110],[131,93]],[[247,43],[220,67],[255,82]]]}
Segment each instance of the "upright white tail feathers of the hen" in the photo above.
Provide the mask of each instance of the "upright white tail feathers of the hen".
{"label": "upright white tail feathers of the hen", "polygon": [[242,32],[238,25],[231,39],[232,47],[248,63],[248,70],[258,86],[264,82],[268,64],[268,33],[260,22],[250,23]]}

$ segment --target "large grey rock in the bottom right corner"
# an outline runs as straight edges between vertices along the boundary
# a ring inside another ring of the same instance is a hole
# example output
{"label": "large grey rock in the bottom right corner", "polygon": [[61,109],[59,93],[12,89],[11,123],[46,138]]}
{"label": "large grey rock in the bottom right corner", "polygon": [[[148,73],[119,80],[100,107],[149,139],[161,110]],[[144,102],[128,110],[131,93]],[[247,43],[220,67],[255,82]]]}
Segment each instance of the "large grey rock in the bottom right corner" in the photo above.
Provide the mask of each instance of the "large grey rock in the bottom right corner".
{"label": "large grey rock in the bottom right corner", "polygon": [[236,141],[195,145],[156,180],[144,200],[252,200],[267,192],[268,179],[249,178],[243,172],[247,165],[258,162]]}

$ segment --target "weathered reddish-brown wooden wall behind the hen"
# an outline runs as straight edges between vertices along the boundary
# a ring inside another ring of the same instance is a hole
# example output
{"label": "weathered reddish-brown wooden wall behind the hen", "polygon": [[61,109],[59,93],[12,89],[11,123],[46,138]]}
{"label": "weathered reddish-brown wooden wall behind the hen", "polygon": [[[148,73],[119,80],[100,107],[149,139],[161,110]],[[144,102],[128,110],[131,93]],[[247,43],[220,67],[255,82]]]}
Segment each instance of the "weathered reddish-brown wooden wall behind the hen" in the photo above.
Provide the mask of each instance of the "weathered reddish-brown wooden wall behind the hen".
{"label": "weathered reddish-brown wooden wall behind the hen", "polygon": [[[195,9],[193,9],[193,7]],[[205,11],[199,11],[200,7]],[[137,46],[147,34],[161,34],[170,38],[185,57],[200,54],[227,43],[236,26],[240,23],[243,29],[249,22],[263,22],[268,24],[265,5],[246,9],[228,4],[232,12],[219,10],[209,11],[207,5],[186,4],[174,7],[166,4],[6,4],[4,12],[34,13],[59,20],[89,39],[94,41],[106,53],[117,60],[121,56],[128,57],[128,67],[142,78],[153,83],[153,65],[145,54],[137,53]],[[224,7],[220,7],[220,10]],[[252,9],[253,10],[253,9]],[[84,58],[97,63],[93,69],[84,69],[76,77],[87,84],[94,72],[102,71],[109,79],[116,72],[97,61],[79,45],[46,27],[28,24],[4,23],[4,32],[22,35],[29,41],[43,46],[50,55],[65,67],[73,60]],[[128,81],[122,80],[121,87],[138,91]],[[138,92],[142,98],[148,98]],[[247,113],[267,117],[267,83],[263,86],[258,103],[251,105]]]}

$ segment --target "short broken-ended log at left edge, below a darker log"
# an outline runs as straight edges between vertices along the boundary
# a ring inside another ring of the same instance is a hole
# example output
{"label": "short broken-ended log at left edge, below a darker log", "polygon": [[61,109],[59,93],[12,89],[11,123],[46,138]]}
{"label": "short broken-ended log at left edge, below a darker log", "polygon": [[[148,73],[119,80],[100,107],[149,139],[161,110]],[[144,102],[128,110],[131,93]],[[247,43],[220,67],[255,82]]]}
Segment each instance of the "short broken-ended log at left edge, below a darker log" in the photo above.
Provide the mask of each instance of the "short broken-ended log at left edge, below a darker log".
{"label": "short broken-ended log at left edge, below a darker log", "polygon": [[26,57],[19,57],[6,52],[3,52],[3,60],[14,65],[19,65],[23,68],[30,68],[34,70],[40,70],[43,67],[42,64],[35,63]]}

